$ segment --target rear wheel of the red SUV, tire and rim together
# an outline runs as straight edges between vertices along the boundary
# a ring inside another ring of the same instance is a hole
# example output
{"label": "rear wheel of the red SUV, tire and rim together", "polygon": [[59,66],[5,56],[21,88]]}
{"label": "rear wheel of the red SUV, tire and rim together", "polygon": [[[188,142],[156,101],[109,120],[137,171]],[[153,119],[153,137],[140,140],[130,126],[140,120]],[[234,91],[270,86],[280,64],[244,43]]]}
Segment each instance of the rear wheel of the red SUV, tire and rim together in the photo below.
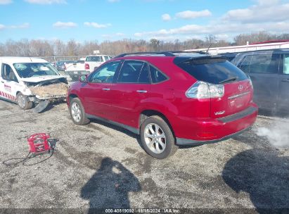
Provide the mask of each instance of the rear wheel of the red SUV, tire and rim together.
{"label": "rear wheel of the red SUV, tire and rim together", "polygon": [[178,149],[171,128],[158,115],[153,115],[143,121],[140,134],[143,149],[153,158],[167,158]]}

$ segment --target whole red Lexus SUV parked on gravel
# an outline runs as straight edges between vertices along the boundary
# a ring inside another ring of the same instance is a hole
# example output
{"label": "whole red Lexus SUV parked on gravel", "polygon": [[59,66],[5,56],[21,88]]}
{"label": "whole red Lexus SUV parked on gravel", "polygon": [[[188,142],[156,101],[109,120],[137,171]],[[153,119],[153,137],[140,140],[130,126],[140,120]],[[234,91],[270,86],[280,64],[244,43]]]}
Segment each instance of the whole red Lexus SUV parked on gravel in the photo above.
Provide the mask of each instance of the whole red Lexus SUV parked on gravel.
{"label": "whole red Lexus SUV parked on gravel", "polygon": [[97,118],[141,135],[166,158],[178,145],[212,143],[248,130],[257,117],[250,78],[221,56],[124,53],[82,75],[68,91],[73,122]]}

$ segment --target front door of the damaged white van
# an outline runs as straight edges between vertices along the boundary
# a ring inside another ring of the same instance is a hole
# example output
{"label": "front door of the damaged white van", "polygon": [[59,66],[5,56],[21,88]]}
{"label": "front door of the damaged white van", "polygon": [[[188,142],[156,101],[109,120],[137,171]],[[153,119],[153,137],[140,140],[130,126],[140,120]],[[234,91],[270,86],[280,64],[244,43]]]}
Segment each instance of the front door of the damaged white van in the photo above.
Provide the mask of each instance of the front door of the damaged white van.
{"label": "front door of the damaged white van", "polygon": [[0,96],[4,99],[16,101],[16,92],[19,88],[18,79],[10,65],[1,64]]}

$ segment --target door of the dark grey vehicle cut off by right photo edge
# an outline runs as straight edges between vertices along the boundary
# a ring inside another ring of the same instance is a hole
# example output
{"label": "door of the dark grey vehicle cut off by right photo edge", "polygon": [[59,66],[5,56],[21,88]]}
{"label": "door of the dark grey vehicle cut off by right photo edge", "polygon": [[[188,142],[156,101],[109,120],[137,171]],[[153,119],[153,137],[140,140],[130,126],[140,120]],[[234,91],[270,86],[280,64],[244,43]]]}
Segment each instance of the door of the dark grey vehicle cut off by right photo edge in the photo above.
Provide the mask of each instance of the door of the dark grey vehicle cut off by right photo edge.
{"label": "door of the dark grey vehicle cut off by right photo edge", "polygon": [[278,110],[289,113],[289,54],[284,54],[281,59]]}

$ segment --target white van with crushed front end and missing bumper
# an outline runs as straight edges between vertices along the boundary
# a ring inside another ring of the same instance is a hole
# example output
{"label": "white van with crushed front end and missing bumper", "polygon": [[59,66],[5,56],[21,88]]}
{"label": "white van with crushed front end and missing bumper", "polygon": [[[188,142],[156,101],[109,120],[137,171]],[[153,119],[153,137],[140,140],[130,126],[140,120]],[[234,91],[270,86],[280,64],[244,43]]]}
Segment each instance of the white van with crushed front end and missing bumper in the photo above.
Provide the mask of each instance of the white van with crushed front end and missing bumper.
{"label": "white van with crushed front end and missing bumper", "polygon": [[49,103],[65,99],[68,81],[41,58],[0,57],[0,98],[40,113]]}

